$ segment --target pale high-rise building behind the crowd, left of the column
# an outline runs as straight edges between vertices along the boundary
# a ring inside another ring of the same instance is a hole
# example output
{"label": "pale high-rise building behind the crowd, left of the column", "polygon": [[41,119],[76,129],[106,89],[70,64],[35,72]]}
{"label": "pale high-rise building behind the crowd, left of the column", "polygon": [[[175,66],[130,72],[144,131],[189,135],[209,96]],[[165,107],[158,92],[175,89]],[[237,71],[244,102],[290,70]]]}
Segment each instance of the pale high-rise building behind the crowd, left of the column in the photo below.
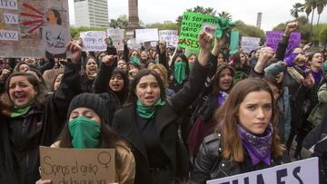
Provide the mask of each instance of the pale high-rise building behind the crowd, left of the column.
{"label": "pale high-rise building behind the crowd, left of the column", "polygon": [[74,0],[75,26],[109,27],[107,0]]}

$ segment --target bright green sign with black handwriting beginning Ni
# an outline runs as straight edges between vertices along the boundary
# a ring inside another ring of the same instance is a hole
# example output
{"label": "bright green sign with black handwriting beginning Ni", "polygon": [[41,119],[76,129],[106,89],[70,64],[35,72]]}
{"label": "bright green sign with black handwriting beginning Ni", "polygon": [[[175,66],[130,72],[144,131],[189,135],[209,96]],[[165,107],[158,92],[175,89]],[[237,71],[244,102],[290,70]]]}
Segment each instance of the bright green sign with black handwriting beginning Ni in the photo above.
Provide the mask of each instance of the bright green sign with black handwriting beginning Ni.
{"label": "bright green sign with black handwriting beginning Ni", "polygon": [[198,35],[203,30],[203,24],[217,25],[218,17],[184,12],[178,45],[185,49],[199,50]]}

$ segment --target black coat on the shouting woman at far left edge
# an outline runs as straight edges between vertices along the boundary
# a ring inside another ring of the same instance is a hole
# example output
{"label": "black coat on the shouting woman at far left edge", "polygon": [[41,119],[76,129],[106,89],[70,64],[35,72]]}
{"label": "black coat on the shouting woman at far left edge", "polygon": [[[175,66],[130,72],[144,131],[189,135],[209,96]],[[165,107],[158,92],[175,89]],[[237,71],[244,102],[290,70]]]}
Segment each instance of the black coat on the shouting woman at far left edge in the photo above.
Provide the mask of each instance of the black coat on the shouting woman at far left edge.
{"label": "black coat on the shouting woman at far left edge", "polygon": [[[34,184],[40,179],[39,146],[50,146],[67,118],[69,102],[80,92],[80,65],[67,63],[59,89],[25,117],[0,114],[0,183]],[[24,122],[23,122],[24,121]]]}

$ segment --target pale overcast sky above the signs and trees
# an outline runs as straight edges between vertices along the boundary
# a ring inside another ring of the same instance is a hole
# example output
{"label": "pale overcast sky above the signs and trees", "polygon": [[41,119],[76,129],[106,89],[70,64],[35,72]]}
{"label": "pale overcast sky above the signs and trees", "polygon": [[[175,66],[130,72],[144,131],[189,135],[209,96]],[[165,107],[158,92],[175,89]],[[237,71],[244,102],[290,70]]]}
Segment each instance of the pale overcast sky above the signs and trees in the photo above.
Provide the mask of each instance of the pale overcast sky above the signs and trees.
{"label": "pale overcast sky above the signs and trees", "polygon": [[[74,24],[74,0],[69,2],[69,19]],[[228,12],[233,21],[241,20],[245,24],[256,24],[258,12],[263,13],[262,29],[270,31],[274,26],[292,20],[290,10],[295,3],[303,3],[304,0],[138,0],[139,18],[144,24],[163,23],[163,21],[175,21],[178,15],[188,8],[196,5],[213,7],[217,12]],[[119,15],[128,15],[128,0],[108,0],[109,20]],[[300,15],[305,15],[302,13]],[[317,14],[314,14],[313,23],[317,22]],[[311,20],[311,15],[310,15]],[[327,23],[327,7],[325,7],[321,23]]]}

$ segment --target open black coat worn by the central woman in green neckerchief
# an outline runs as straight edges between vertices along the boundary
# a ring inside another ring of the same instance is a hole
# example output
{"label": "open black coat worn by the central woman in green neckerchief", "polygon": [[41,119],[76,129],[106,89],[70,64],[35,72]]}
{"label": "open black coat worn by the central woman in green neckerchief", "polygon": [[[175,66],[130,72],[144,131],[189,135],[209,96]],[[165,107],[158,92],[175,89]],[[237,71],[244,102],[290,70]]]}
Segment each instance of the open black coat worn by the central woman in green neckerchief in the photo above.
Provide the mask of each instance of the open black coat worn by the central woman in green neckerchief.
{"label": "open black coat worn by the central woman in green neckerchief", "polygon": [[[188,154],[180,142],[177,128],[179,115],[187,108],[203,89],[205,73],[210,67],[196,64],[189,82],[185,84],[173,99],[156,109],[154,122],[157,124],[159,139],[164,154],[169,158],[169,169],[174,178],[186,179],[188,177]],[[127,140],[134,153],[136,161],[135,184],[152,183],[147,154],[136,124],[136,106],[127,106],[114,115],[113,128],[124,140]]]}

